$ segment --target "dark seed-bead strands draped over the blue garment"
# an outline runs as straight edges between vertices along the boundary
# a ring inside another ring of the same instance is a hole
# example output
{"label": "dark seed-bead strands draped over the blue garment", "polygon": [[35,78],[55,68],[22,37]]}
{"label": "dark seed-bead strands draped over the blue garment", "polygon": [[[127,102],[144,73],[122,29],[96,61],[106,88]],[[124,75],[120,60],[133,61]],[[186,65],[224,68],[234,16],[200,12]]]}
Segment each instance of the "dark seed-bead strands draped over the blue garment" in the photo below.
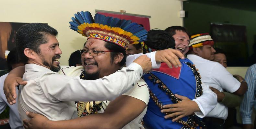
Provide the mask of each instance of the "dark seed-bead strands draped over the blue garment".
{"label": "dark seed-bead strands draped over the blue garment", "polygon": [[[198,98],[199,96],[201,96],[203,94],[203,90],[202,90],[202,82],[201,82],[201,76],[200,74],[197,72],[198,69],[195,68],[195,65],[194,64],[191,64],[189,62],[183,62],[185,64],[187,64],[193,74],[195,75],[195,78],[196,78],[196,95],[195,95],[195,98]],[[152,73],[149,73],[150,76],[148,77],[148,79],[150,79],[151,82],[153,82],[153,84],[158,84],[158,87],[166,92],[166,94],[171,98],[171,101],[175,104],[179,103],[181,100],[178,99],[177,97],[175,97],[175,95],[172,93],[171,90],[169,90],[169,88],[160,80],[158,79],[154,74]],[[156,105],[162,110],[162,106],[164,105],[158,98],[157,96],[149,89],[149,94],[150,94],[150,97],[153,99],[153,101],[156,103]],[[165,113],[166,115],[168,114],[171,114],[171,112],[169,113]],[[204,122],[202,120],[200,120],[194,113],[191,114],[190,116],[188,116],[188,121],[185,122],[183,121],[182,119],[179,119],[176,121],[177,123],[180,123],[183,126],[183,129],[196,129],[197,126],[200,126],[199,128],[200,129],[205,129],[206,128],[206,125],[204,124]]]}

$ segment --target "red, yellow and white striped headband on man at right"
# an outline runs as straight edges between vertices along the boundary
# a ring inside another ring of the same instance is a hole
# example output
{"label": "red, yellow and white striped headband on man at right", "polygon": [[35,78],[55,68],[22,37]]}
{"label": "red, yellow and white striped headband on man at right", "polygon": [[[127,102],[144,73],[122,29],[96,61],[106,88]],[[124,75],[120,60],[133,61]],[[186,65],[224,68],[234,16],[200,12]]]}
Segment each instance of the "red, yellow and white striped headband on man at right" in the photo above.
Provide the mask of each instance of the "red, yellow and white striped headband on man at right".
{"label": "red, yellow and white striped headband on man at right", "polygon": [[213,44],[214,41],[208,33],[196,34],[190,37],[189,49]]}

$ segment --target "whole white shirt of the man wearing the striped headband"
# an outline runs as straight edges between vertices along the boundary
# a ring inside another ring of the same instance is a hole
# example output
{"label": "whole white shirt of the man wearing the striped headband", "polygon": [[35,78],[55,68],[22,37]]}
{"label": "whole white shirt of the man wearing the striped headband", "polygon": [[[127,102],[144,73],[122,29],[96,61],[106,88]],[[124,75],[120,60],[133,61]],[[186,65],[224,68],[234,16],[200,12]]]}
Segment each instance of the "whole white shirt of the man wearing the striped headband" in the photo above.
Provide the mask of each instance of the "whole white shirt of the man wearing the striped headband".
{"label": "whole white shirt of the man wearing the striped headband", "polygon": [[[226,68],[217,62],[206,60],[197,55],[187,55],[199,69],[199,73],[202,76],[201,80],[204,84],[210,87],[216,88],[220,92],[223,89],[230,93],[237,91],[240,87],[240,82],[230,74]],[[225,105],[217,103],[216,107],[206,116],[216,117],[226,120],[228,109]]]}

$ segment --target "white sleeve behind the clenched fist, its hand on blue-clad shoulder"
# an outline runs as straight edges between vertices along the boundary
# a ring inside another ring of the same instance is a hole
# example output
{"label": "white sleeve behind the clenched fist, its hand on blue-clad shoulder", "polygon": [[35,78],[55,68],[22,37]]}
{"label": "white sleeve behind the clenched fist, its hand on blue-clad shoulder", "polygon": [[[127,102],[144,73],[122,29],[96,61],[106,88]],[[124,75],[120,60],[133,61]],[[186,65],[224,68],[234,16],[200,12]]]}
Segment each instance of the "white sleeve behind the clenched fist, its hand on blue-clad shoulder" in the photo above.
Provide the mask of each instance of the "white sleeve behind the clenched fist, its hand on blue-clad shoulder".
{"label": "white sleeve behind the clenched fist, its hand on blue-clad shoulder", "polygon": [[[145,55],[147,55],[148,58],[151,59],[151,62],[152,62],[152,68],[159,68],[161,66],[161,62],[156,62],[156,58],[155,58],[155,55],[156,55],[156,52],[151,52],[151,53],[146,53]],[[126,66],[128,66],[129,64],[133,63],[133,61],[135,59],[137,59],[139,56],[143,55],[143,53],[140,53],[140,54],[134,54],[134,55],[129,55],[126,57]]]}

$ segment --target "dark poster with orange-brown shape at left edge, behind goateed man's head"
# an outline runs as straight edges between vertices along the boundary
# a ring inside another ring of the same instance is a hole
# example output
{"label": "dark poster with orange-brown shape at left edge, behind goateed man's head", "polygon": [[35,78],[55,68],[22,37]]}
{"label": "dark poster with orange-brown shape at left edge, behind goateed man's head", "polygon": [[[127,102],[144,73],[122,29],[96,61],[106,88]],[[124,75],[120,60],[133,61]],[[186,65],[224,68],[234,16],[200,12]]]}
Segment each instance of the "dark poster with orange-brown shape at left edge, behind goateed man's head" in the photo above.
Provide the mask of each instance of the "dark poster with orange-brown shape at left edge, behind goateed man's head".
{"label": "dark poster with orange-brown shape at left edge, behind goateed man's head", "polygon": [[16,32],[20,26],[28,23],[0,22],[0,76],[7,73],[6,58],[16,47]]}

